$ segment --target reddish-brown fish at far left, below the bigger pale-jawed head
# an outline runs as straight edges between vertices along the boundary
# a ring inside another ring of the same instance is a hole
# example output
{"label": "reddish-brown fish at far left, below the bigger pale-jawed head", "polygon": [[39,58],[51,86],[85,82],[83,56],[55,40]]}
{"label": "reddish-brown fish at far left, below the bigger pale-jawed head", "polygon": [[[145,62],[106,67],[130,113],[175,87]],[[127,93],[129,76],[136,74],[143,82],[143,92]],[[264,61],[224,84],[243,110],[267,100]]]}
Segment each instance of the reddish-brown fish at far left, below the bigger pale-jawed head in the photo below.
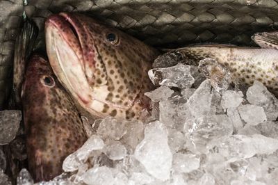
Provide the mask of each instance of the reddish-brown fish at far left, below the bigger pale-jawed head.
{"label": "reddish-brown fish at far left, below the bigger pale-jawed head", "polygon": [[70,95],[42,56],[28,61],[22,103],[29,170],[35,182],[50,180],[87,136]]}

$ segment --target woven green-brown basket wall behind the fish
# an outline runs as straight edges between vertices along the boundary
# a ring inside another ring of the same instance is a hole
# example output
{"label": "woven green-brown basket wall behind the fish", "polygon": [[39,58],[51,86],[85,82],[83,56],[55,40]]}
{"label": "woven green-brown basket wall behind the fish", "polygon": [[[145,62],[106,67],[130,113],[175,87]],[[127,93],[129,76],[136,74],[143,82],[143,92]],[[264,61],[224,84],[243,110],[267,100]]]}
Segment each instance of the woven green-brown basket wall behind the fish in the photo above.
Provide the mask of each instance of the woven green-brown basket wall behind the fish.
{"label": "woven green-brown basket wall behind the fish", "polygon": [[86,13],[149,45],[218,42],[254,45],[250,35],[278,27],[278,0],[22,0],[0,1],[0,109],[11,85],[14,40],[23,11],[40,27],[61,11]]}

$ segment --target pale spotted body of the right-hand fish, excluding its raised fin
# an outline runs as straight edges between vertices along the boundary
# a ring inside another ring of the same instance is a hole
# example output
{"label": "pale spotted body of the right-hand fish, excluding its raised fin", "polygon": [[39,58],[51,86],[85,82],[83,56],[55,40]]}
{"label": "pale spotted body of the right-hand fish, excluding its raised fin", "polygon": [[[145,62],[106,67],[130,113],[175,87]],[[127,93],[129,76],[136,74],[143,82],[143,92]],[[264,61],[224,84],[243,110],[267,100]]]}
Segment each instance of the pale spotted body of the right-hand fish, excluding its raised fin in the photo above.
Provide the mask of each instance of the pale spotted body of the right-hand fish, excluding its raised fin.
{"label": "pale spotted body of the right-hand fish, excluding its raised fin", "polygon": [[278,50],[248,48],[229,45],[201,45],[176,50],[190,64],[198,65],[204,58],[226,66],[233,79],[245,86],[261,81],[272,93],[278,95]]}

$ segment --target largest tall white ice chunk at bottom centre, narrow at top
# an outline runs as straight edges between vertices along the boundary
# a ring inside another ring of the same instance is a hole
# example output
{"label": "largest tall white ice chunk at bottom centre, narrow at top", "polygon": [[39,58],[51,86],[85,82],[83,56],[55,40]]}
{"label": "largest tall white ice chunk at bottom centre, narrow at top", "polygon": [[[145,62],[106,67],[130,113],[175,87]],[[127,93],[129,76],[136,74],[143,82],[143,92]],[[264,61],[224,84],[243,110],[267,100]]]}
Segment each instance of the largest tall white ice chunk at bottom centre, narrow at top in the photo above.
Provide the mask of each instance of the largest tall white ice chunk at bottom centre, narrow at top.
{"label": "largest tall white ice chunk at bottom centre, narrow at top", "polygon": [[162,181],[170,178],[172,168],[172,153],[167,142],[165,126],[155,121],[147,125],[145,138],[134,152],[134,156],[145,166],[147,172]]}

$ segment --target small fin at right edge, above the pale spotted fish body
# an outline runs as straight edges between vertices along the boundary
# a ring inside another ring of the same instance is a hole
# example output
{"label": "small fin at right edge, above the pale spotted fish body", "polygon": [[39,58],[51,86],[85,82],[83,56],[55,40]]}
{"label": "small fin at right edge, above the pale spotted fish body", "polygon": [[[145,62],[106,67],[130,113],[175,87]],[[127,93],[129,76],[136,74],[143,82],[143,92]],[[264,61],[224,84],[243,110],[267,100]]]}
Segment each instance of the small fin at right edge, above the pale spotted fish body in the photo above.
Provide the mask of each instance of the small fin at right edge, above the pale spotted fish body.
{"label": "small fin at right edge, above the pale spotted fish body", "polygon": [[278,31],[255,33],[251,38],[261,48],[278,49]]}

